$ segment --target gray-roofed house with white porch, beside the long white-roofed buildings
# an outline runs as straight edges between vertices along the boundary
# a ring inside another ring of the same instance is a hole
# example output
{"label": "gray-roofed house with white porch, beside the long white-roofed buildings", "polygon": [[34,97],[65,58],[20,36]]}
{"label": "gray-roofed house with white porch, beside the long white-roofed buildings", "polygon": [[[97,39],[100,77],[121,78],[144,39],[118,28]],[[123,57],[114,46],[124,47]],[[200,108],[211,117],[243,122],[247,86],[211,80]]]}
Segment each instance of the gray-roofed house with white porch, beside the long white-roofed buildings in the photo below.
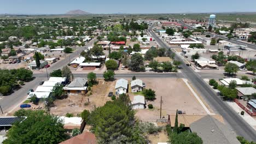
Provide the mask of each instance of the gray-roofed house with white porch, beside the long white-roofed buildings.
{"label": "gray-roofed house with white porch, beside the long white-roofed buildings", "polygon": [[68,93],[82,93],[85,94],[88,87],[87,79],[78,77],[69,83],[66,87],[63,87],[64,91]]}

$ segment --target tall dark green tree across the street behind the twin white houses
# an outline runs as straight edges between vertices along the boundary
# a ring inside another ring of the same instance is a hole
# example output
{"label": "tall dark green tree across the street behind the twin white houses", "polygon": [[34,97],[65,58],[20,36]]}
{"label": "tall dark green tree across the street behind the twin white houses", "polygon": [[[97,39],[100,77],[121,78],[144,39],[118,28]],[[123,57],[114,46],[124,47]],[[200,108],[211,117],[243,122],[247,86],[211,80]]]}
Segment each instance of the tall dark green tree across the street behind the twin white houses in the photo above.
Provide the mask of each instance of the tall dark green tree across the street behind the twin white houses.
{"label": "tall dark green tree across the street behind the twin white houses", "polygon": [[141,54],[135,53],[131,57],[130,69],[132,71],[139,71],[144,67],[144,59]]}

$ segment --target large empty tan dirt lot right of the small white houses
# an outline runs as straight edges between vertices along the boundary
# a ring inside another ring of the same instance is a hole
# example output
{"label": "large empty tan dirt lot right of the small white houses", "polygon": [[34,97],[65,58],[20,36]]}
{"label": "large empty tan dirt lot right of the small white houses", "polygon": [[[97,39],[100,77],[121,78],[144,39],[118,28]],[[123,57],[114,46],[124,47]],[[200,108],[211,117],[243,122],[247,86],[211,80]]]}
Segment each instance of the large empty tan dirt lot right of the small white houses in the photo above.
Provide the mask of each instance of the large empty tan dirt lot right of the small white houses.
{"label": "large empty tan dirt lot right of the small white houses", "polygon": [[[136,116],[142,121],[160,117],[160,99],[162,96],[162,116],[175,115],[176,110],[185,111],[187,115],[206,115],[206,111],[199,101],[191,93],[182,79],[141,79],[146,83],[146,88],[152,88],[156,92],[156,100],[147,101],[153,104],[154,109],[136,110]],[[129,93],[130,99],[133,95]]]}

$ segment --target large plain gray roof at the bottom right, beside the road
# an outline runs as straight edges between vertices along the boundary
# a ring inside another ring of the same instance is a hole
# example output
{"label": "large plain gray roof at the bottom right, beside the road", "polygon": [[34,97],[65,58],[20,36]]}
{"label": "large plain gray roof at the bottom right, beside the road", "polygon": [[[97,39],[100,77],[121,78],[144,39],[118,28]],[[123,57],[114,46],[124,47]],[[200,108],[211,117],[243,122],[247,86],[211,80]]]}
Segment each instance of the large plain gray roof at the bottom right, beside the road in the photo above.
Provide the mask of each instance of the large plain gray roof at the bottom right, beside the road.
{"label": "large plain gray roof at the bottom right, beside the road", "polygon": [[190,129],[201,137],[203,143],[241,144],[226,125],[210,115],[191,123]]}

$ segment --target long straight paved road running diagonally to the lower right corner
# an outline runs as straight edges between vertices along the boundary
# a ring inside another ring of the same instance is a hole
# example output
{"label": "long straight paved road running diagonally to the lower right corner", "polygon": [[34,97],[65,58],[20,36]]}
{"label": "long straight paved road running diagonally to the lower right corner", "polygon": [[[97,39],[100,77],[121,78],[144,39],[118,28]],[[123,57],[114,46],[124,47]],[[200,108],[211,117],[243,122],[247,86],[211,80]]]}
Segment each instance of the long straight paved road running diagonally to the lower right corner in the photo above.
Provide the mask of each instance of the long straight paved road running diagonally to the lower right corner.
{"label": "long straight paved road running diagonally to the lower right corner", "polygon": [[[161,47],[166,47],[167,49],[170,49],[170,47],[167,46],[161,39],[159,39],[154,32],[152,32],[151,30],[149,30],[149,32],[152,34],[152,36]],[[179,61],[183,61],[177,56],[176,59]],[[208,86],[205,81],[202,80],[199,74],[195,73],[194,70],[186,66],[184,63],[181,65],[181,67],[183,68],[182,73],[184,77],[193,84],[197,92],[202,95],[202,97],[211,106],[213,111],[223,116],[225,121],[231,127],[231,130],[234,130],[237,135],[244,136],[247,140],[256,141],[256,131],[240,116],[238,116],[238,114],[234,110],[232,110],[230,106],[225,104],[219,97],[217,97],[213,89]]]}

